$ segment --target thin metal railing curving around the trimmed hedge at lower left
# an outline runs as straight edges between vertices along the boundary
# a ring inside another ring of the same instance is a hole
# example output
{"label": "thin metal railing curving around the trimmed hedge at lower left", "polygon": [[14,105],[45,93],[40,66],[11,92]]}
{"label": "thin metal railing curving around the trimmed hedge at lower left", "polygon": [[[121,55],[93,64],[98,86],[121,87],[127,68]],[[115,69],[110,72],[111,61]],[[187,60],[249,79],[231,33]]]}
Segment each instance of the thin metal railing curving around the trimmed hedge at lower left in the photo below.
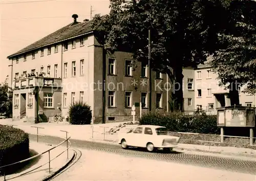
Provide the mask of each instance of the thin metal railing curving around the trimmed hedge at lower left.
{"label": "thin metal railing curving around the trimmed hedge at lower left", "polygon": [[[13,127],[13,126],[17,126],[17,125],[7,125],[7,124],[6,124],[6,126],[11,126],[11,127]],[[36,135],[37,135],[37,142],[38,142],[38,136],[39,136],[39,135],[42,135],[42,136],[49,136],[49,135],[46,135],[46,134],[39,134],[39,133],[38,133],[38,129],[40,129],[40,128],[41,128],[41,129],[44,129],[44,128],[42,128],[42,127],[36,127],[36,126],[31,126],[31,127],[34,127],[34,128],[37,129],[37,134],[36,134]],[[61,143],[59,143],[58,145],[53,146],[52,148],[50,148],[50,149],[48,149],[48,150],[46,150],[46,151],[44,151],[44,152],[42,152],[42,153],[39,153],[39,154],[34,155],[34,156],[32,156],[32,157],[29,157],[28,159],[25,159],[25,160],[22,160],[22,161],[19,161],[19,162],[15,162],[15,163],[12,163],[12,164],[8,164],[8,165],[1,166],[1,167],[0,167],[0,170],[4,171],[4,181],[5,181],[5,180],[10,180],[10,179],[13,179],[13,178],[17,178],[17,177],[20,177],[20,176],[23,176],[23,175],[26,175],[26,174],[28,174],[28,173],[30,173],[30,172],[32,172],[32,171],[38,169],[38,168],[41,168],[41,167],[43,167],[43,166],[45,166],[45,165],[47,165],[47,164],[49,164],[49,173],[51,173],[51,162],[52,162],[53,160],[55,160],[57,157],[59,157],[62,153],[66,152],[66,151],[67,151],[67,160],[68,160],[68,159],[69,159],[69,148],[71,147],[71,143],[70,143],[70,141],[69,141],[70,138],[71,138],[71,135],[69,135],[69,137],[68,137],[68,134],[69,134],[68,131],[64,131],[64,130],[60,130],[60,131],[66,132],[66,138],[59,137],[59,138],[65,139],[65,140],[62,141]],[[57,147],[59,147],[59,146],[62,145],[63,143],[67,143],[67,148],[66,148],[65,150],[63,150],[61,153],[59,153],[57,156],[55,156],[53,159],[51,159],[50,151],[53,150],[53,149],[55,149],[55,148],[57,148]],[[27,172],[25,172],[25,173],[19,174],[19,175],[14,176],[14,177],[6,178],[5,168],[10,167],[10,166],[13,166],[13,165],[20,164],[20,163],[28,162],[28,161],[30,161],[30,160],[35,159],[36,157],[39,157],[39,156],[41,156],[41,155],[43,155],[43,154],[46,154],[46,153],[48,153],[48,155],[49,155],[49,161],[48,161],[48,162],[46,162],[46,163],[44,163],[44,164],[42,164],[42,165],[40,165],[40,166],[38,166],[38,167],[36,167],[36,168],[34,168],[34,169],[32,169],[32,170],[29,170],[29,171],[27,171]]]}

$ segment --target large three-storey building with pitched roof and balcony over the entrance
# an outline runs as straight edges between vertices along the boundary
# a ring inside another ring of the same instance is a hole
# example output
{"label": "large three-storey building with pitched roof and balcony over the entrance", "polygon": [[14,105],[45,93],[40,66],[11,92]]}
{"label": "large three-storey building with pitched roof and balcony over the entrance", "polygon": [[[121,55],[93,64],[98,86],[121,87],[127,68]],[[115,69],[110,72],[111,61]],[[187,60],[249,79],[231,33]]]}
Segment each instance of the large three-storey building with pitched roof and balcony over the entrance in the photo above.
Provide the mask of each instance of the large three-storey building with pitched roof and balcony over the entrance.
{"label": "large three-storey building with pitched roof and balcony over the entrance", "polygon": [[[52,121],[60,113],[67,118],[76,101],[91,106],[94,123],[132,121],[135,102],[142,102],[142,112],[148,111],[147,66],[134,61],[131,53],[105,53],[99,43],[102,35],[90,28],[90,21],[72,17],[72,24],[7,57],[13,120]],[[152,110],[166,110],[172,92],[167,98],[166,82],[166,74],[152,71]]]}

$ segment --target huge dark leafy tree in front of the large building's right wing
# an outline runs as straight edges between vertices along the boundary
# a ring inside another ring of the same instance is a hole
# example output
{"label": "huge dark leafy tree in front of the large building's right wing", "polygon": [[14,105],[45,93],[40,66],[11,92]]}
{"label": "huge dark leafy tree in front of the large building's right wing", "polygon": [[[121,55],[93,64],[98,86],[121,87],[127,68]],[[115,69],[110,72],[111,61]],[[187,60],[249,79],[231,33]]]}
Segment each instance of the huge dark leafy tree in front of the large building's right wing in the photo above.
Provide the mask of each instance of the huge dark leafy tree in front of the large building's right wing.
{"label": "huge dark leafy tree in front of the large building's right wing", "polygon": [[[92,27],[105,32],[104,48],[133,53],[147,62],[151,29],[152,67],[173,81],[175,109],[183,110],[183,67],[196,67],[218,49],[218,33],[226,24],[225,0],[111,0],[109,15],[96,15]],[[169,69],[172,68],[172,69]]]}

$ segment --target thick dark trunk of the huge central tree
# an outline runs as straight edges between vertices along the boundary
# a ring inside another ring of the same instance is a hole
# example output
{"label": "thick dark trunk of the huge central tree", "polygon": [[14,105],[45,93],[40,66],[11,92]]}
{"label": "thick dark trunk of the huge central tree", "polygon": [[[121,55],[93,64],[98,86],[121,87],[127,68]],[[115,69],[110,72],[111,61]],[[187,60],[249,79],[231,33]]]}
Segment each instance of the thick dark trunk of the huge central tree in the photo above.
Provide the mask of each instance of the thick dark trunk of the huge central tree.
{"label": "thick dark trunk of the huge central tree", "polygon": [[175,101],[175,110],[178,111],[184,111],[183,107],[183,74],[182,74],[182,66],[178,66],[174,69],[174,77],[175,77],[175,83],[174,83],[174,95],[176,98]]}

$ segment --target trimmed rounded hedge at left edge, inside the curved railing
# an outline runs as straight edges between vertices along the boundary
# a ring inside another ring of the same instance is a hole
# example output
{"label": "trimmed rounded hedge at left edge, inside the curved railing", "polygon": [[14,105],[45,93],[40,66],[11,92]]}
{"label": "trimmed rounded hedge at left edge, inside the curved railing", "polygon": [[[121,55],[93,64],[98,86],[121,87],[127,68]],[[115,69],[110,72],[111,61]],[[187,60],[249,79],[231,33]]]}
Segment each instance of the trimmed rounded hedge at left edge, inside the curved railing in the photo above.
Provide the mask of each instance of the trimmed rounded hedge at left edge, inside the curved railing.
{"label": "trimmed rounded hedge at left edge, inside the curved railing", "polygon": [[[29,156],[29,134],[21,129],[0,125],[0,167],[25,160]],[[10,173],[21,165],[6,167],[4,171]]]}

